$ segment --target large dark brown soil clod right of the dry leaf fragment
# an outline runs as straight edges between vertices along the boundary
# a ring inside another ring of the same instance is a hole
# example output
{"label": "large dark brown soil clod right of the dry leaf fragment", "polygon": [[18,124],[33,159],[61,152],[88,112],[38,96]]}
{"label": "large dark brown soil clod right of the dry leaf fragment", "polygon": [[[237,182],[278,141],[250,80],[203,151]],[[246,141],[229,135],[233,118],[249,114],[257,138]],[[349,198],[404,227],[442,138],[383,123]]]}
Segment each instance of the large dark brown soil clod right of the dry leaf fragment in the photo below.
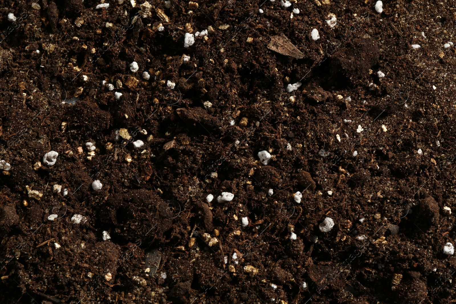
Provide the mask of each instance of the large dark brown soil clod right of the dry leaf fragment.
{"label": "large dark brown soil clod right of the dry leaf fragment", "polygon": [[339,85],[354,85],[366,79],[368,71],[377,64],[380,51],[371,38],[357,39],[332,56],[330,75]]}

